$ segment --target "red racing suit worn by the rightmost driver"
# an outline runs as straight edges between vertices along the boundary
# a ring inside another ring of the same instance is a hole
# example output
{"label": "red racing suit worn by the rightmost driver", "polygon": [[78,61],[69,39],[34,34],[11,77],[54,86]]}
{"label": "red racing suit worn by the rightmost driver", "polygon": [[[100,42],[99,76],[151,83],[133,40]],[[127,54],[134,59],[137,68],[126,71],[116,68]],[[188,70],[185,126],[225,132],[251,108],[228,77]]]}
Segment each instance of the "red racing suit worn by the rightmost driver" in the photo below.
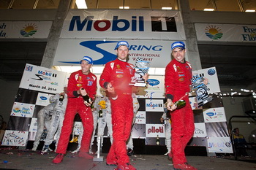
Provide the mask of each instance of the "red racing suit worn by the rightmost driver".
{"label": "red racing suit worn by the rightmost driver", "polygon": [[[178,101],[187,92],[191,84],[192,67],[189,62],[180,63],[173,59],[167,64],[165,69],[165,89],[166,97],[173,102]],[[171,149],[170,156],[173,156],[173,165],[186,163],[185,147],[194,134],[194,115],[189,104],[188,95],[182,98],[186,101],[186,106],[175,109],[171,114]]]}

